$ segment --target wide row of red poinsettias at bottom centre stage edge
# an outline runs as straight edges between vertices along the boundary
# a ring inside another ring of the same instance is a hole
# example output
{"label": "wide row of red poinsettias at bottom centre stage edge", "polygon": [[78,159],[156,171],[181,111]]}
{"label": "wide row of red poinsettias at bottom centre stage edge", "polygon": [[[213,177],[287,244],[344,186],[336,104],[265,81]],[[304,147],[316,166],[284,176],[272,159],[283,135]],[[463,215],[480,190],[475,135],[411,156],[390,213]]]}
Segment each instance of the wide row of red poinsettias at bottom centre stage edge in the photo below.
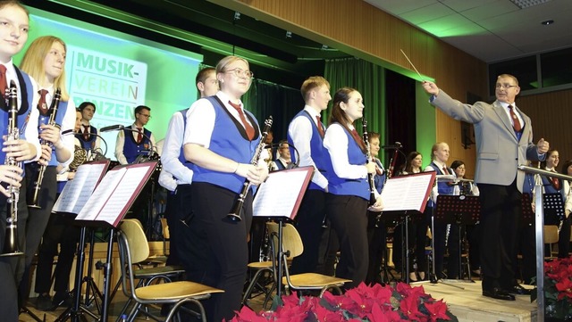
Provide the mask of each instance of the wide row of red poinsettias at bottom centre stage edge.
{"label": "wide row of red poinsettias at bottom centre stage edge", "polygon": [[423,286],[405,283],[371,285],[364,283],[342,295],[298,297],[296,293],[274,301],[273,310],[255,313],[244,306],[231,322],[303,321],[458,321],[442,300],[425,293]]}

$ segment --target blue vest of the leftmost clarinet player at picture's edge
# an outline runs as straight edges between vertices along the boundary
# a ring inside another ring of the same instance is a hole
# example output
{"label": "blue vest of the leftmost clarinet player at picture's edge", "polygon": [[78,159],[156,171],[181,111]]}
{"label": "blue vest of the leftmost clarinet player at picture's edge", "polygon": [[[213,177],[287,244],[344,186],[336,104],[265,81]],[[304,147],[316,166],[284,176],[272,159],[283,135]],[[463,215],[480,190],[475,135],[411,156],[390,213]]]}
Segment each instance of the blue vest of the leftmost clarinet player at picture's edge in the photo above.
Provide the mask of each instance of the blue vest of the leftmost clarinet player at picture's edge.
{"label": "blue vest of the leftmost clarinet player at picture's edge", "polygon": [[[28,126],[29,113],[32,111],[31,100],[34,97],[34,87],[32,86],[31,78],[29,78],[28,74],[18,70],[16,66],[14,66],[14,69],[18,76],[21,91],[21,102],[19,102],[20,110],[18,110],[18,128],[20,128],[20,137],[25,139],[24,132],[26,131],[26,126]],[[3,99],[0,99],[0,133],[2,136],[8,134],[8,106]],[[37,139],[37,137],[34,137],[34,139]],[[5,160],[6,153],[0,149],[0,162],[4,162]],[[22,176],[24,176],[23,173]]]}

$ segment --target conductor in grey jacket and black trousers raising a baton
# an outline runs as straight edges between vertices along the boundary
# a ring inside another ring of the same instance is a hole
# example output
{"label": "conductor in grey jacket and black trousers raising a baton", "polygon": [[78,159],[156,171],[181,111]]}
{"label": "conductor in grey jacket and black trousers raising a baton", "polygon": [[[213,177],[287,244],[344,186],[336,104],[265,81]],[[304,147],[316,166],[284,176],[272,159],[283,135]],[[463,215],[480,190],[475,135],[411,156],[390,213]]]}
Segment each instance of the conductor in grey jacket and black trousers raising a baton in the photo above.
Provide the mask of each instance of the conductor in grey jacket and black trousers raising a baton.
{"label": "conductor in grey jacket and black trousers raising a baton", "polygon": [[518,110],[518,80],[502,74],[496,81],[496,101],[460,103],[424,81],[430,102],[455,120],[475,126],[475,182],[481,191],[481,265],[483,295],[514,301],[515,294],[530,293],[518,285],[513,260],[517,258],[518,222],[522,218],[522,187],[525,173],[517,170],[526,160],[542,161],[550,148],[543,138],[533,143],[529,117]]}

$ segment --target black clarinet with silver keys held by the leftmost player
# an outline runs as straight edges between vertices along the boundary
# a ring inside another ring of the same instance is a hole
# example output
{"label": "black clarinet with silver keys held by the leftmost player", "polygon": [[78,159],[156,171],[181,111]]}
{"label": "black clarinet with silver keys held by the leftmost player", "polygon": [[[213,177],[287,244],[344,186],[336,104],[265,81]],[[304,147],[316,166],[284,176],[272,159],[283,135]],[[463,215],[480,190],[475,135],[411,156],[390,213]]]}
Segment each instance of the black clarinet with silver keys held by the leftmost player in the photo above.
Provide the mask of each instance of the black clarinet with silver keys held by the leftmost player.
{"label": "black clarinet with silver keys held by the leftmost player", "polygon": [[[8,136],[6,141],[14,141],[20,138],[20,128],[18,128],[18,89],[14,81],[10,82],[10,92],[8,93]],[[4,164],[21,167],[21,162],[14,157],[6,157]],[[0,256],[19,256],[24,253],[18,248],[18,200],[20,199],[20,188],[7,186],[6,190],[10,197],[6,200],[6,235],[4,239],[4,249]]]}

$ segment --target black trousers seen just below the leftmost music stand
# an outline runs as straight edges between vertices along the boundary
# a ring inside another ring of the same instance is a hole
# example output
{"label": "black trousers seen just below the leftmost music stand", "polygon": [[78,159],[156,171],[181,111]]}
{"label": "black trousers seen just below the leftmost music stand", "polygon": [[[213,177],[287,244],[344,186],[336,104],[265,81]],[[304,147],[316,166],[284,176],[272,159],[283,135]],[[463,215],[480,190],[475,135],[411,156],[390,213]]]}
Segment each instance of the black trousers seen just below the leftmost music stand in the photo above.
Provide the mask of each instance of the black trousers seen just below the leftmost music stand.
{"label": "black trousers seen just below the leftmost music stand", "polygon": [[74,219],[59,213],[53,213],[42,236],[42,244],[38,248],[38,268],[36,269],[35,291],[38,294],[48,293],[51,286],[54,256],[60,252],[55,265],[56,293],[68,292],[71,266],[80,239],[80,227],[73,224]]}

